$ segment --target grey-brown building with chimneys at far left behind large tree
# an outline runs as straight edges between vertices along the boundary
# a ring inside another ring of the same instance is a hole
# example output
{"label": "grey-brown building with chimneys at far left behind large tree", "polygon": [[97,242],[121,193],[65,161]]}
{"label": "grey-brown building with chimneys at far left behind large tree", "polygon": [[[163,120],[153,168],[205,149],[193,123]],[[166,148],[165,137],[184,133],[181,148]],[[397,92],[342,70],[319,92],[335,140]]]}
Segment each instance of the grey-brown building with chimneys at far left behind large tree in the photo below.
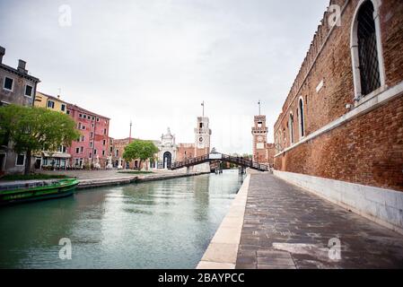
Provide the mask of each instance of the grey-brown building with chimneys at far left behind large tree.
{"label": "grey-brown building with chimneys at far left behind large tree", "polygon": [[[17,68],[4,65],[5,49],[0,47],[0,107],[14,104],[33,106],[39,79],[28,74],[26,62],[19,60]],[[25,167],[25,154],[13,152],[13,143],[0,143],[0,174],[21,173]]]}

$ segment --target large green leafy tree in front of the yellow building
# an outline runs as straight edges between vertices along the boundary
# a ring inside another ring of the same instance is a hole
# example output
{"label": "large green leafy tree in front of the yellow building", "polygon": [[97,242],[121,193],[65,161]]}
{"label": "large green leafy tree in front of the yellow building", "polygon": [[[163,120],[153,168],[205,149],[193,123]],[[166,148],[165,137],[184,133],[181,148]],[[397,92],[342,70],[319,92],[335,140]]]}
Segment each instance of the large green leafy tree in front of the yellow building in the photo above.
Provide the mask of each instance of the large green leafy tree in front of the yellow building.
{"label": "large green leafy tree in front of the yellow building", "polygon": [[31,156],[41,151],[56,151],[70,145],[80,134],[74,120],[49,109],[8,105],[0,108],[0,140],[8,139],[13,150],[26,153],[24,174],[31,172]]}

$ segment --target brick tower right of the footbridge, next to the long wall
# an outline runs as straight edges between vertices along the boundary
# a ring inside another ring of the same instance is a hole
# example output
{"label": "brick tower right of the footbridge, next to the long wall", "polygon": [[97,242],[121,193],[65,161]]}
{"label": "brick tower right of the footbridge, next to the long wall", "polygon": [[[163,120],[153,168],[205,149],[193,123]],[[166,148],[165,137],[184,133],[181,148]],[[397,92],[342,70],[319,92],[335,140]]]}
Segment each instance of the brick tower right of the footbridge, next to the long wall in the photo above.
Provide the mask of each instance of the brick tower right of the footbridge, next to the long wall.
{"label": "brick tower right of the footbridge, next to the long wall", "polygon": [[267,132],[266,116],[255,116],[255,124],[252,127],[253,135],[253,161],[267,164]]}

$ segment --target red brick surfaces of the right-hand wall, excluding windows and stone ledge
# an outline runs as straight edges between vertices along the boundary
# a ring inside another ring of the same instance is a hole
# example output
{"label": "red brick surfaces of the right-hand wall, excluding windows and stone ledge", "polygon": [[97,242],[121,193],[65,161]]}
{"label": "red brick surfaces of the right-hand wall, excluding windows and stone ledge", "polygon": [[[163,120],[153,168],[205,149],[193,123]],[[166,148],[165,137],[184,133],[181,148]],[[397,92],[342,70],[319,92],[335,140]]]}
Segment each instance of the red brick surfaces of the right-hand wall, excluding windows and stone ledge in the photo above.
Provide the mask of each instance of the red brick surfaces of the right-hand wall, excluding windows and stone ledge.
{"label": "red brick surfaces of the right-hand wall, excluding windows and stone ledge", "polygon": [[[345,1],[331,3],[342,5]],[[386,85],[391,87],[403,80],[403,1],[382,0],[381,3],[381,44]],[[276,138],[276,143],[281,143],[283,149],[291,145],[287,126],[290,111],[294,115],[294,142],[300,140],[296,116],[300,97],[304,103],[305,135],[311,135],[346,114],[346,104],[354,104],[350,32],[357,4],[358,0],[349,1],[341,26],[329,34],[326,44],[324,39],[329,27],[325,13],[324,24],[312,41],[285,100],[283,112],[276,121],[275,137],[285,129],[285,143]],[[325,46],[319,53],[322,44]],[[317,92],[321,80],[324,86]],[[285,152],[276,157],[275,165],[276,170],[403,191],[402,96]]]}

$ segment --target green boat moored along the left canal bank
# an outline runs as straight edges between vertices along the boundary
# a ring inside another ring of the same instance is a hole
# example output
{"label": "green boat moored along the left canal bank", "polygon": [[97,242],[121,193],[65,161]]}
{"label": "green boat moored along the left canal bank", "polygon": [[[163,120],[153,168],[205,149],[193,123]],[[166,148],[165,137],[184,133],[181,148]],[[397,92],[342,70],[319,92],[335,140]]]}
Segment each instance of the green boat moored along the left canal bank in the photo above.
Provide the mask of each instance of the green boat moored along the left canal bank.
{"label": "green boat moored along the left canal bank", "polygon": [[0,186],[0,205],[72,196],[77,185],[75,178],[3,184]]}

